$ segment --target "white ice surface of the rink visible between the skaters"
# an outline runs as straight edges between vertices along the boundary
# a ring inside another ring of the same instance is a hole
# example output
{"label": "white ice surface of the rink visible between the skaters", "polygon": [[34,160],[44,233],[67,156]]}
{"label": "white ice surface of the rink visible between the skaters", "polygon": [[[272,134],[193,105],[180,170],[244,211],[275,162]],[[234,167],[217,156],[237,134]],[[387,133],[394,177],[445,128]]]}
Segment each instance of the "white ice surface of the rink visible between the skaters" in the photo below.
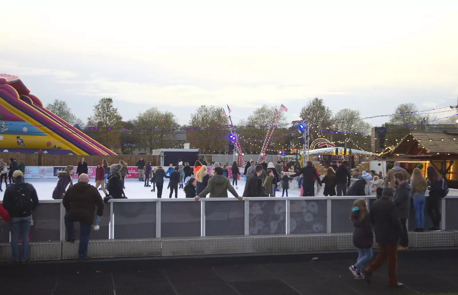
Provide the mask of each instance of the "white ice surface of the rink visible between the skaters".
{"label": "white ice surface of the rink visible between the skaters", "polygon": [[[38,199],[52,200],[52,193],[57,184],[57,179],[26,179],[25,181],[31,183],[35,187],[38,193]],[[76,183],[76,182],[77,180],[74,179],[73,183]],[[89,183],[95,186],[95,181],[93,179],[91,179]],[[169,180],[165,179],[164,189],[162,191],[162,198],[169,197],[170,190],[167,189],[168,184],[169,184]],[[232,184],[232,180],[231,180],[231,184]],[[144,185],[144,182],[139,182],[138,179],[126,179],[125,180],[125,190],[124,190],[125,196],[131,199],[157,198],[157,189],[156,189],[156,192],[151,192],[153,185],[151,186],[151,188],[144,187],[143,185]],[[291,185],[292,184],[290,183],[290,187]],[[5,183],[3,184],[2,188],[3,188],[3,192],[5,192]],[[242,196],[243,190],[245,188],[245,181],[239,180],[238,188],[239,189],[237,189],[236,191],[237,193],[239,193],[240,196]],[[100,192],[100,195],[102,195],[103,197],[105,196],[102,191],[99,191],[99,192]],[[3,199],[3,193],[0,193],[0,194],[2,195],[1,198]],[[300,192],[298,190],[295,190],[295,191],[291,189],[288,190],[289,197],[299,197],[299,194]],[[232,197],[232,198],[234,197],[229,192],[228,192],[228,195],[229,197]],[[281,196],[282,196],[282,190],[280,188],[280,192],[276,193],[276,197],[281,197]],[[286,197],[286,193],[285,193],[285,197]],[[174,195],[172,196],[172,198],[174,198]],[[178,190],[178,198],[185,198],[185,192],[183,191],[183,189]]]}

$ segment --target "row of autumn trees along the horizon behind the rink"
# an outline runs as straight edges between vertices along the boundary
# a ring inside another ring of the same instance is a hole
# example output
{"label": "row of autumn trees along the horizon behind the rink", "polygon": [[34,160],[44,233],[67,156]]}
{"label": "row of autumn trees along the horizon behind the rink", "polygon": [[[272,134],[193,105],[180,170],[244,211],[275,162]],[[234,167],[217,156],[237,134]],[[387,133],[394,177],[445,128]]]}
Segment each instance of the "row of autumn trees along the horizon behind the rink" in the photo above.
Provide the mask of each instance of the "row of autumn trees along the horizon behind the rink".
{"label": "row of autumn trees along the horizon behind the rink", "polygon": [[[202,154],[224,153],[232,143],[228,137],[226,116],[221,107],[197,107],[186,125],[180,125],[173,113],[161,111],[157,107],[138,113],[134,119],[123,120],[110,97],[101,98],[93,106],[93,114],[86,118],[87,123],[77,118],[65,101],[56,99],[47,104],[46,108],[100,144],[121,154],[130,153],[132,147],[141,149],[144,154],[158,148],[180,148],[185,142],[190,143],[190,148],[199,149]],[[267,130],[272,128],[277,118],[275,109],[279,110],[279,106],[262,105],[245,119],[235,122],[233,118],[240,145],[245,153],[257,154],[261,151]],[[421,116],[417,111],[418,108],[413,103],[396,107],[394,113],[405,115],[392,116],[383,125],[387,129],[384,145],[396,145],[399,139],[409,133],[410,128],[406,126],[428,124],[435,119]],[[448,121],[442,120],[440,123],[449,123]],[[299,120],[290,122],[285,112],[279,113],[267,151],[275,154],[278,150],[301,148],[300,134],[296,131],[298,124],[302,122],[310,123],[311,142],[324,138],[335,142],[336,146],[371,150],[372,126],[361,119],[359,110],[344,108],[333,113],[323,99],[315,97],[301,108]],[[179,133],[186,136],[186,141],[176,139]],[[380,148],[378,151],[381,151]]]}

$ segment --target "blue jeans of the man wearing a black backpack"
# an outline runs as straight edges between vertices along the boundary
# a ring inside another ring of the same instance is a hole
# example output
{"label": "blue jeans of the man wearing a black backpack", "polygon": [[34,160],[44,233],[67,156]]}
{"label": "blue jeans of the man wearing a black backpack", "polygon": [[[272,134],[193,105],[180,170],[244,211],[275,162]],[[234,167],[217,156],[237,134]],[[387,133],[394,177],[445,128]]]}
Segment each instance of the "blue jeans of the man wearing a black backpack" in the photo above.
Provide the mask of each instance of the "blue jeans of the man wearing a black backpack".
{"label": "blue jeans of the man wearing a black backpack", "polygon": [[[28,259],[28,233],[30,231],[31,221],[32,215],[27,217],[11,217],[11,256],[15,262],[26,262]],[[19,253],[19,231],[21,231],[22,236],[21,253]]]}

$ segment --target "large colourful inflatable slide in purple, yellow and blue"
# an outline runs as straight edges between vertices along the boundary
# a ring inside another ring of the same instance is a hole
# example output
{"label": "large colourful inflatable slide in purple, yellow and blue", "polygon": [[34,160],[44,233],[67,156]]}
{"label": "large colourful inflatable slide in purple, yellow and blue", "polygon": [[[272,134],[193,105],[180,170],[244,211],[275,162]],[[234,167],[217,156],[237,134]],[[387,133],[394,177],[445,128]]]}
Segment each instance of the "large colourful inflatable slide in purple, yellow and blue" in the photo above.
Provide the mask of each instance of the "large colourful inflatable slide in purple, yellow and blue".
{"label": "large colourful inflatable slide in purple, yellow and blue", "polygon": [[0,152],[116,155],[46,109],[18,76],[0,74]]}

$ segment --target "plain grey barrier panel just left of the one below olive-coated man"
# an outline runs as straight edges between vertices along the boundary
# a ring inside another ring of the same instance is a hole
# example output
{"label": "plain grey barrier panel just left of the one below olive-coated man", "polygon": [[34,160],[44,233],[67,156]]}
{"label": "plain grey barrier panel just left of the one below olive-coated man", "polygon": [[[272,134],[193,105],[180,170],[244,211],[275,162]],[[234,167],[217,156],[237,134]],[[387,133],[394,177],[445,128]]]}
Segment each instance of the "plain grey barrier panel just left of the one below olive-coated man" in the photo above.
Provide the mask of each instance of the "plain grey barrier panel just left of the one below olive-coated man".
{"label": "plain grey barrier panel just left of the one below olive-coated man", "polygon": [[161,202],[161,236],[200,236],[201,202]]}

